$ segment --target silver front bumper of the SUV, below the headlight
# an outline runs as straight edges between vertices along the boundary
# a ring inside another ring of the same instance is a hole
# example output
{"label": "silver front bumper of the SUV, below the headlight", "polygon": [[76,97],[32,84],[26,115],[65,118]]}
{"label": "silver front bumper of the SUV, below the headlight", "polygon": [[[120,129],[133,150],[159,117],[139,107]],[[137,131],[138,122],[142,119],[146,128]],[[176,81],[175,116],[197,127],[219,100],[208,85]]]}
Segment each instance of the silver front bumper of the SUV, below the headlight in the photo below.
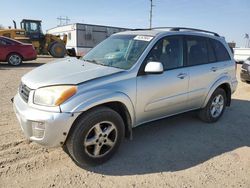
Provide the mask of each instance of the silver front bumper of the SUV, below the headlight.
{"label": "silver front bumper of the SUV, below the headlight", "polygon": [[77,117],[77,114],[35,109],[19,94],[13,99],[13,108],[25,137],[47,147],[63,145]]}

